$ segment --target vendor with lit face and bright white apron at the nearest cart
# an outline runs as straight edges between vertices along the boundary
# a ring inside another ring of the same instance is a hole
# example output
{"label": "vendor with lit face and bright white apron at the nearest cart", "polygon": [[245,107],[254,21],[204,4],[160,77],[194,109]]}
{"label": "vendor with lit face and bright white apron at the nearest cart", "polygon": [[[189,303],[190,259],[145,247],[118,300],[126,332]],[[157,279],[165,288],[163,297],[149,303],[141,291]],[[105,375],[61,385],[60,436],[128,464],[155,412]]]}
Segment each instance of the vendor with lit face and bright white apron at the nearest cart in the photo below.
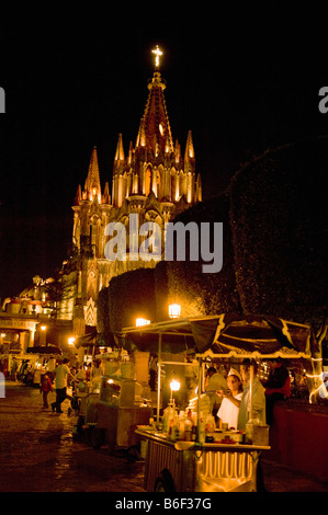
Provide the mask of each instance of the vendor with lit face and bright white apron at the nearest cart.
{"label": "vendor with lit face and bright white apron at the nearest cart", "polygon": [[219,427],[222,424],[228,424],[229,428],[237,430],[239,405],[242,397],[241,376],[238,370],[230,368],[227,377],[228,392],[219,390],[218,394],[223,398],[220,408],[217,412]]}

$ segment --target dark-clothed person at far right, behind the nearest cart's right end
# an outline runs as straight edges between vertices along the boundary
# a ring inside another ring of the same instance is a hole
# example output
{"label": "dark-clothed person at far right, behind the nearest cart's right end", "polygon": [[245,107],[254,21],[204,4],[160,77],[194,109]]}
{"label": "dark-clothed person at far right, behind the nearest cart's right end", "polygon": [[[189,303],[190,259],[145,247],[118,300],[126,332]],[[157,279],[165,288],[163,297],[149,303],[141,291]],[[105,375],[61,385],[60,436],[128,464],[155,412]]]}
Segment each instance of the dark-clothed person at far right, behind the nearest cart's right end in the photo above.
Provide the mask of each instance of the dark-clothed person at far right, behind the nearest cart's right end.
{"label": "dark-clothed person at far right, behind the nearest cart's right end", "polygon": [[273,423],[273,408],[275,402],[286,400],[291,397],[291,378],[289,369],[283,365],[282,358],[268,359],[271,368],[269,379],[264,384],[267,424]]}

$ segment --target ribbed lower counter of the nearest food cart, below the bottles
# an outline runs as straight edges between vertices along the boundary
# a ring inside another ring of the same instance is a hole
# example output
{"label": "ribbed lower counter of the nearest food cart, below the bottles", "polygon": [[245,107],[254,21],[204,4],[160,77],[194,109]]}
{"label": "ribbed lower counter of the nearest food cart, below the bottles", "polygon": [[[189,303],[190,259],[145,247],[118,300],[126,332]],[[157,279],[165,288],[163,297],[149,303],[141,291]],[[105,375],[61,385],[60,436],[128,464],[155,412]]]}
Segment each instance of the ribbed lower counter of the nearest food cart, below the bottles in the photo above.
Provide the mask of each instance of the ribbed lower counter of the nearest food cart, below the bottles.
{"label": "ribbed lower counter of the nearest food cart, below the bottles", "polygon": [[268,445],[172,442],[137,428],[147,442],[144,488],[163,492],[255,492],[257,466]]}

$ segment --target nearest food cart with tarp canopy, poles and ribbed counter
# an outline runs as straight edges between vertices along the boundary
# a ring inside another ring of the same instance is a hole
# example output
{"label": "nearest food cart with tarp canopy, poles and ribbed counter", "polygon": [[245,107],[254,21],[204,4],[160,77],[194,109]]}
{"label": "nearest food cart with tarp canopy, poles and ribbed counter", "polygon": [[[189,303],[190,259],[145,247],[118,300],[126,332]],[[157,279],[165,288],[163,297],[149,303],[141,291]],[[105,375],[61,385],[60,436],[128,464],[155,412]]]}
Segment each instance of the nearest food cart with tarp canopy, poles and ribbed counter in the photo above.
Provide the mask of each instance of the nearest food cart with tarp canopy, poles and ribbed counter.
{"label": "nearest food cart with tarp canopy, poles and ribbed counter", "polygon": [[127,345],[133,341],[144,350],[149,345],[152,347],[157,340],[159,370],[165,364],[162,351],[168,348],[173,353],[194,348],[200,364],[194,440],[190,437],[180,439],[178,433],[163,431],[159,419],[161,374],[158,375],[157,425],[136,430],[147,442],[145,489],[163,492],[257,491],[259,458],[262,451],[270,449],[269,426],[253,425],[251,438],[238,431],[220,435],[215,430],[206,440],[200,413],[203,366],[205,362],[222,357],[234,358],[235,363],[237,358],[246,357],[310,358],[310,328],[273,317],[219,314],[127,328],[125,337]]}

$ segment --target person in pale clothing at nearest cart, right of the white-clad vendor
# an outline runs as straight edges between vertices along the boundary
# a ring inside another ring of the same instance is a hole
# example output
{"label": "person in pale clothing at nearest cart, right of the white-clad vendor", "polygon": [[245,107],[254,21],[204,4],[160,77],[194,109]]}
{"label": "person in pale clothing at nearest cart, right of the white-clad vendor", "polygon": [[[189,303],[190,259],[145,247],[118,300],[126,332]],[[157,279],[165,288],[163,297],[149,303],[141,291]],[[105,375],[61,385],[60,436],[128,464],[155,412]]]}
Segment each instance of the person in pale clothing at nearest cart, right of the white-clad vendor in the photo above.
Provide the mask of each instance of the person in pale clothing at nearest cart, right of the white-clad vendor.
{"label": "person in pale clothing at nearest cart, right of the white-clad vendor", "polygon": [[[253,367],[253,381],[251,388],[250,399],[250,367]],[[240,376],[242,380],[242,397],[239,405],[238,414],[238,430],[246,430],[246,424],[250,417],[259,420],[265,424],[265,394],[264,387],[261,385],[260,379],[256,376],[258,366],[250,359],[244,359],[240,365]],[[251,402],[250,402],[251,401]],[[250,414],[250,404],[252,405],[252,413]]]}

